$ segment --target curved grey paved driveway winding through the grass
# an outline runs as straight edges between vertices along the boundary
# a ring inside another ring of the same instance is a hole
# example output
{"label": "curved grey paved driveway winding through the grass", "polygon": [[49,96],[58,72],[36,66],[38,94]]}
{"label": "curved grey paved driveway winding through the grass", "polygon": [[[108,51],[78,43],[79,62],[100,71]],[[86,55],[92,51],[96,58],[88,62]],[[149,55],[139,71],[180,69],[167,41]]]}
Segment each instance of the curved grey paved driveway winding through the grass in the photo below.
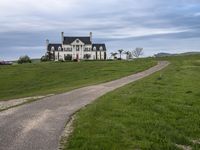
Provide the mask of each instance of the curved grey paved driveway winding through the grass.
{"label": "curved grey paved driveway winding through the grass", "polygon": [[165,68],[169,62],[115,81],[84,87],[0,112],[0,150],[56,150],[70,116],[116,88]]}

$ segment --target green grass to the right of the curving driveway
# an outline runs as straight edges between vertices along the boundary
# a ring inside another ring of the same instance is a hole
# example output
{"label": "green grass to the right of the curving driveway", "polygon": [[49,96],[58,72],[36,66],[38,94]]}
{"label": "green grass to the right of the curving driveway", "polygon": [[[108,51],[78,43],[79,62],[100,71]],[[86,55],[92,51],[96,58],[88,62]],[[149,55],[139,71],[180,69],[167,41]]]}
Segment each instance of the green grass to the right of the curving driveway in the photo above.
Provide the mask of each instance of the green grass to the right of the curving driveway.
{"label": "green grass to the right of the curving driveway", "polygon": [[78,112],[68,150],[200,149],[200,55],[163,58],[166,69]]}

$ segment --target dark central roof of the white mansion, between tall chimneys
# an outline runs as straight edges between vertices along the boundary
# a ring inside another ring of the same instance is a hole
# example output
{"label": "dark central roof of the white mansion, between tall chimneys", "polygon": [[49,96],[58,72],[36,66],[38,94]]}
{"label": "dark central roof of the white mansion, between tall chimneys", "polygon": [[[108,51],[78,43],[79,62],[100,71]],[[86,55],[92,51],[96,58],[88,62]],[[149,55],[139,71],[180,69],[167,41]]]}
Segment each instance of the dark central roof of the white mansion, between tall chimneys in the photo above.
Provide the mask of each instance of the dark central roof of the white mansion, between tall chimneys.
{"label": "dark central roof of the white mansion, between tall chimneys", "polygon": [[63,44],[71,44],[76,39],[79,39],[84,44],[92,44],[92,42],[90,41],[90,37],[64,37]]}

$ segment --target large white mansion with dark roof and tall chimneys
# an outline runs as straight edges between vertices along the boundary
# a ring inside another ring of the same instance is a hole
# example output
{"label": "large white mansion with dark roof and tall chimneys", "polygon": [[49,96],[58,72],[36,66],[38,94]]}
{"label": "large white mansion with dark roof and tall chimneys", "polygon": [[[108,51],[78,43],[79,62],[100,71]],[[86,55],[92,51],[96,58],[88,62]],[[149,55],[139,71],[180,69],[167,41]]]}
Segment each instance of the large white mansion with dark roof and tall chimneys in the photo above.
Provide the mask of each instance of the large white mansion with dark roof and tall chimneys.
{"label": "large white mansion with dark roof and tall chimneys", "polygon": [[85,37],[64,36],[61,33],[61,43],[49,43],[47,56],[50,60],[106,60],[106,45],[92,42],[92,32]]}

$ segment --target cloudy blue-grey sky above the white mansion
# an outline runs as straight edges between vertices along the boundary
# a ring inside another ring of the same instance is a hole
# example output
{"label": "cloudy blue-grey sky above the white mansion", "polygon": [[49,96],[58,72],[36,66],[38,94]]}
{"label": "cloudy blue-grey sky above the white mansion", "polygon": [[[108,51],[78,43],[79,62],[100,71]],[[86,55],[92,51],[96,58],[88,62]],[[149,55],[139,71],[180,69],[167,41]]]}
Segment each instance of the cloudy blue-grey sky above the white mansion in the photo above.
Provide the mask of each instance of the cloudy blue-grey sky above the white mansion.
{"label": "cloudy blue-grey sky above the white mansion", "polygon": [[62,31],[93,32],[108,53],[200,51],[200,0],[0,0],[0,60],[40,58]]}

